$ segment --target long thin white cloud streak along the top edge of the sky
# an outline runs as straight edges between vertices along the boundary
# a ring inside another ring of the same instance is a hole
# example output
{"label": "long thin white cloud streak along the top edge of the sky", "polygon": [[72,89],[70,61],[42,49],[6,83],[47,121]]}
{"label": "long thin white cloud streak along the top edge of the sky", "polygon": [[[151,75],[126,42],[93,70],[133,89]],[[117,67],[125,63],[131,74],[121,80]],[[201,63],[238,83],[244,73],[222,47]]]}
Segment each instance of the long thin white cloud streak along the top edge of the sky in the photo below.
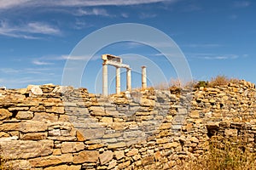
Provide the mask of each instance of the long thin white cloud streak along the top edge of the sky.
{"label": "long thin white cloud streak along the top edge of the sky", "polygon": [[40,7],[40,6],[62,6],[62,7],[96,7],[96,6],[127,6],[127,5],[137,5],[146,3],[174,3],[177,0],[44,0],[44,1],[32,1],[32,0],[1,0],[0,9],[8,9],[15,7]]}

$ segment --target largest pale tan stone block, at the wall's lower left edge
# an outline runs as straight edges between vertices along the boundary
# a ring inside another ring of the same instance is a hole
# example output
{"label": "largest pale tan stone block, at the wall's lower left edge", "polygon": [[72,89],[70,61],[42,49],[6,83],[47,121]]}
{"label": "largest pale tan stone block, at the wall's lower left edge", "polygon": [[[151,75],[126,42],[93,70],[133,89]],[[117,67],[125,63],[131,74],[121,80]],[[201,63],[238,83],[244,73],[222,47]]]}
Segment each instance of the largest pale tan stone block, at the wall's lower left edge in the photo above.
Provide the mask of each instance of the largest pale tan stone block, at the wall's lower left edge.
{"label": "largest pale tan stone block, at the wall's lower left edge", "polygon": [[0,141],[0,147],[3,150],[3,156],[7,159],[27,159],[37,156],[49,156],[53,151],[53,141]]}

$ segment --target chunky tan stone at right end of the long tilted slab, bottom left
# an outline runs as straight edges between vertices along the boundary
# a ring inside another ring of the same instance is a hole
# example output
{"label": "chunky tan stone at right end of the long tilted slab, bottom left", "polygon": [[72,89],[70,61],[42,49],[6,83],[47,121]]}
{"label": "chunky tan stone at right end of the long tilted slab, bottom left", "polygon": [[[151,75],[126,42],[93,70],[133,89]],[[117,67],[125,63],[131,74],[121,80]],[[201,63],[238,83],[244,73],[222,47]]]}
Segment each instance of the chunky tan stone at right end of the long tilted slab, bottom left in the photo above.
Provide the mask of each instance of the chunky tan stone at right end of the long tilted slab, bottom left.
{"label": "chunky tan stone at right end of the long tilted slab, bottom left", "polygon": [[73,157],[73,163],[79,164],[84,162],[96,162],[98,161],[99,152],[84,150],[79,152],[79,155]]}

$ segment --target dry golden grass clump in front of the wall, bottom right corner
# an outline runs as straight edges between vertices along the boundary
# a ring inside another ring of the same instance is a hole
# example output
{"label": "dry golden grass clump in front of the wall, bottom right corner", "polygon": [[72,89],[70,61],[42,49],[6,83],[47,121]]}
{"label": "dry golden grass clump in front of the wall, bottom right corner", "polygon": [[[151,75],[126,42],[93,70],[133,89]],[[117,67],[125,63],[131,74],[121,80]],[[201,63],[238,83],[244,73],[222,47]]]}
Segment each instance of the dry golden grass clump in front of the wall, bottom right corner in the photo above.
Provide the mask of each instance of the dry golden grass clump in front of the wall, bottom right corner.
{"label": "dry golden grass clump in front of the wall, bottom right corner", "polygon": [[241,142],[212,140],[209,149],[194,161],[177,167],[183,170],[249,170],[256,169],[256,153]]}

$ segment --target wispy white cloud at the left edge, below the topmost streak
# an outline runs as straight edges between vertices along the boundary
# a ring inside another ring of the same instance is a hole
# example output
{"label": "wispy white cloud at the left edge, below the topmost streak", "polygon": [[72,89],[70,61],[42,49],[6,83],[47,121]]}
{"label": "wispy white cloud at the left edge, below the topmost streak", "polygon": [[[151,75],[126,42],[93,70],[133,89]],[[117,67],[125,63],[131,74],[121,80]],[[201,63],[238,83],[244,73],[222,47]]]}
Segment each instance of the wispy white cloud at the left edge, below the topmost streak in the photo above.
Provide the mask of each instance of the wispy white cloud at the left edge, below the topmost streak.
{"label": "wispy white cloud at the left edge, below the topmost streak", "polygon": [[30,22],[26,25],[11,26],[7,21],[0,21],[0,35],[7,37],[21,37],[36,39],[35,34],[59,35],[61,31],[53,26],[41,22]]}

